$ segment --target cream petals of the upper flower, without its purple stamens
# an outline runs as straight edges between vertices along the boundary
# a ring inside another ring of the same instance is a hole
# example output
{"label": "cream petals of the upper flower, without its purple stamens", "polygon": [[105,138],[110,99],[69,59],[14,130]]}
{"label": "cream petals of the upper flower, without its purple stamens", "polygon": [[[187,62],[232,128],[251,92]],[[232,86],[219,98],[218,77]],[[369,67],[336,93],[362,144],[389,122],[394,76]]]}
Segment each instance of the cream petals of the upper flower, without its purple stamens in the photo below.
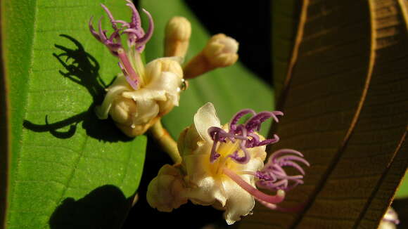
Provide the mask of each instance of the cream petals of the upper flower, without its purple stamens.
{"label": "cream petals of the upper flower, without its purple stamens", "polygon": [[159,117],[179,105],[183,71],[178,58],[159,58],[139,68],[139,89],[133,89],[124,74],[119,74],[106,89],[105,100],[96,107],[99,119],[108,114],[127,135],[138,136],[152,126]]}

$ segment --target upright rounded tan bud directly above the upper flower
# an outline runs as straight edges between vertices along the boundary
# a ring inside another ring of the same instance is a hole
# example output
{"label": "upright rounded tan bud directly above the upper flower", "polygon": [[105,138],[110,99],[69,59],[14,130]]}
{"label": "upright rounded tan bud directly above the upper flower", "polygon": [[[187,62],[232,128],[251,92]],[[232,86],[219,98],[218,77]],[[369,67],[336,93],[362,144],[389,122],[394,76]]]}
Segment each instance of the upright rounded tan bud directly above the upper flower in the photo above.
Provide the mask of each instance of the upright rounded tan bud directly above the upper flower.
{"label": "upright rounded tan bud directly above the upper flower", "polygon": [[165,29],[165,56],[184,58],[191,36],[191,24],[183,17],[173,17]]}

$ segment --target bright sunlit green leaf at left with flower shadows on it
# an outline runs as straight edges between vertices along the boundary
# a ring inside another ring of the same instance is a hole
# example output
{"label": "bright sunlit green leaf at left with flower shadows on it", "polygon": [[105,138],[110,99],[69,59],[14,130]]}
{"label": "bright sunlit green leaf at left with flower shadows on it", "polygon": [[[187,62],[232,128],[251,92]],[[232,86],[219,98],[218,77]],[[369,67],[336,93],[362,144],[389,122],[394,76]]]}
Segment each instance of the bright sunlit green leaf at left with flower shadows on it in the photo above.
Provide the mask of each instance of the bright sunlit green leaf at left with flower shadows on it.
{"label": "bright sunlit green leaf at left with flower shadows on it", "polygon": [[[124,1],[104,4],[130,16]],[[7,227],[119,227],[139,185],[146,137],[126,138],[94,115],[120,72],[88,30],[91,15],[110,27],[103,9],[91,0],[22,0],[2,1],[1,10]]]}

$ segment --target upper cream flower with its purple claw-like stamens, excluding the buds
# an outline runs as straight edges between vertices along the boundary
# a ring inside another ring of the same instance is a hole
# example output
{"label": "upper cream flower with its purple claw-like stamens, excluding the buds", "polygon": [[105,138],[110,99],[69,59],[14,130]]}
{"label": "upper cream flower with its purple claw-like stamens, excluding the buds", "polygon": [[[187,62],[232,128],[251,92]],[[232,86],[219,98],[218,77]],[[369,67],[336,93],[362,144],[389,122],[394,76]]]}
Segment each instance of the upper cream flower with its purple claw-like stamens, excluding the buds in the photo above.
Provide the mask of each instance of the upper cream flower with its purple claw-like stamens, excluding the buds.
{"label": "upper cream flower with its purple claw-like stamens, excluding the buds", "polygon": [[[106,11],[113,33],[107,36],[106,30],[98,24],[98,32],[89,21],[89,30],[94,37],[108,47],[110,53],[119,59],[122,73],[106,91],[106,97],[100,107],[96,107],[99,119],[110,115],[115,124],[127,135],[138,136],[179,105],[179,93],[184,85],[182,58],[158,58],[146,66],[141,60],[146,42],[153,34],[153,18],[148,11],[149,27],[147,32],[141,27],[138,11],[132,1],[127,6],[132,10],[130,22],[115,20],[108,8]],[[122,44],[122,35],[127,35],[127,50]]]}

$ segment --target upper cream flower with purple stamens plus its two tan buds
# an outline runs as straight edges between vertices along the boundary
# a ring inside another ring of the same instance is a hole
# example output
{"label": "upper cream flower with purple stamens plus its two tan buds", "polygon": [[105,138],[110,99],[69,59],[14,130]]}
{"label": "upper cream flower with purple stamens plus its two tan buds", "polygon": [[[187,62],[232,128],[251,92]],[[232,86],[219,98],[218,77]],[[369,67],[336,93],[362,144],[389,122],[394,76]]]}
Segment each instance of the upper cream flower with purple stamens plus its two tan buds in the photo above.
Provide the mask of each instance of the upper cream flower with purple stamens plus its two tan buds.
{"label": "upper cream flower with purple stamens plus its two tan buds", "polygon": [[[119,59],[122,70],[106,89],[106,97],[102,105],[96,107],[96,114],[99,119],[107,119],[110,115],[122,132],[134,137],[145,133],[160,117],[179,105],[180,93],[187,85],[185,79],[234,64],[238,59],[238,43],[224,34],[215,35],[196,58],[182,67],[189,47],[191,25],[186,18],[174,17],[165,29],[165,57],[145,65],[141,53],[152,37],[153,18],[143,9],[149,22],[145,32],[136,7],[132,1],[126,1],[132,11],[130,22],[116,20],[102,5],[112,24],[112,34],[108,36],[107,31],[102,29],[101,20],[98,30],[95,30],[92,18],[89,30]],[[122,44],[122,36],[127,36],[126,48]]]}

